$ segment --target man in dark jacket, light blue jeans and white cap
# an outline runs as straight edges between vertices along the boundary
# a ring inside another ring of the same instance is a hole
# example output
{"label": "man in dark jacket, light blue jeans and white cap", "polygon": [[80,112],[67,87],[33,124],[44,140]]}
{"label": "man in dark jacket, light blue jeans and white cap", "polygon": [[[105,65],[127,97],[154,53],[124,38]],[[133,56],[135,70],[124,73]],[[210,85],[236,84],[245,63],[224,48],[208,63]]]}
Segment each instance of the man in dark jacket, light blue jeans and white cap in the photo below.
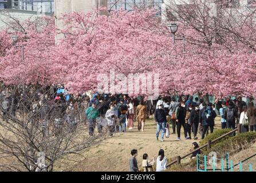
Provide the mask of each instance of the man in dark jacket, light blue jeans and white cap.
{"label": "man in dark jacket, light blue jeans and white cap", "polygon": [[157,123],[156,128],[156,140],[158,141],[158,136],[161,130],[161,141],[164,141],[164,128],[166,128],[166,111],[163,109],[163,105],[160,104],[158,108],[155,110],[155,120]]}

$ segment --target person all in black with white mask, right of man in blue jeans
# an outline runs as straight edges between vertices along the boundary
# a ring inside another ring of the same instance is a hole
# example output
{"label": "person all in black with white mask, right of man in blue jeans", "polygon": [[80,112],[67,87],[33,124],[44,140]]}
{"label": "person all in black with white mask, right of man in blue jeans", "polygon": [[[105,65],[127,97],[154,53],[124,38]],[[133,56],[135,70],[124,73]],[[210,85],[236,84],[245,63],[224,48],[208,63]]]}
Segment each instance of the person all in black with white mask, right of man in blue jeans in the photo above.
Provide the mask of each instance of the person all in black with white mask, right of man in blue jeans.
{"label": "person all in black with white mask, right of man in blue jeans", "polygon": [[176,118],[177,133],[178,133],[177,140],[181,140],[180,139],[180,130],[181,130],[182,126],[183,126],[183,129],[184,129],[184,136],[185,136],[185,138],[187,138],[187,136],[186,136],[187,129],[185,127],[186,106],[185,106],[185,102],[184,101],[181,101],[180,102],[180,106],[178,106],[178,108],[176,108],[175,118]]}

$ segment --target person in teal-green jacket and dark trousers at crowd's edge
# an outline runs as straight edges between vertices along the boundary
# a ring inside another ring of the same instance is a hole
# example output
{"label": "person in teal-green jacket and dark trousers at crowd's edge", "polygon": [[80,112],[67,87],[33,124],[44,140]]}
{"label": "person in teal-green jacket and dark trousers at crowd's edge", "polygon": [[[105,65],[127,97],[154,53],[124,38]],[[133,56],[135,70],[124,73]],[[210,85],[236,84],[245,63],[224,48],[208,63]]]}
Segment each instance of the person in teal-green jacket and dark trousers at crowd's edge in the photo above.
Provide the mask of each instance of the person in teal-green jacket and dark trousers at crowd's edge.
{"label": "person in teal-green jacket and dark trousers at crowd's edge", "polygon": [[99,115],[99,111],[96,109],[96,105],[93,103],[92,106],[85,110],[85,116],[89,123],[89,135],[93,136],[94,127],[96,125],[96,118]]}

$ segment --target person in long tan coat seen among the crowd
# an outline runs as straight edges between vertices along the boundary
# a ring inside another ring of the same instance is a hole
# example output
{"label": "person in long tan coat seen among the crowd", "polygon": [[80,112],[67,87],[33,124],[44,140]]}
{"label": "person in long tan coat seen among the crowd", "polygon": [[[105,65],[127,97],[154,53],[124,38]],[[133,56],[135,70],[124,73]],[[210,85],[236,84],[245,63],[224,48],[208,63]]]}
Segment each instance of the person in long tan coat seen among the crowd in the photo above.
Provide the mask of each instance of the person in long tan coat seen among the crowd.
{"label": "person in long tan coat seen among the crowd", "polygon": [[138,130],[141,132],[144,131],[145,127],[145,120],[148,115],[148,109],[147,106],[144,104],[143,101],[140,101],[140,105],[137,106],[136,108],[136,116],[137,116],[137,121],[138,121]]}

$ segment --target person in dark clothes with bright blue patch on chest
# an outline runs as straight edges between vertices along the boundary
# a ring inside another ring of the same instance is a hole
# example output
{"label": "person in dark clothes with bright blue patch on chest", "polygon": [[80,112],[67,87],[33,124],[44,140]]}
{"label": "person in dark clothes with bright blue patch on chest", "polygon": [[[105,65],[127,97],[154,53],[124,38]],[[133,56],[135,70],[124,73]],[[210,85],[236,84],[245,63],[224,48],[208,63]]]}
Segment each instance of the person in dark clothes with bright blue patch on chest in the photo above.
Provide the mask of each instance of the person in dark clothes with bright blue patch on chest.
{"label": "person in dark clothes with bright blue patch on chest", "polygon": [[212,109],[212,104],[209,103],[207,108],[204,109],[202,113],[202,121],[203,121],[203,134],[202,140],[206,134],[208,128],[210,128],[210,132],[213,133],[214,130],[214,118],[216,117],[215,111]]}

